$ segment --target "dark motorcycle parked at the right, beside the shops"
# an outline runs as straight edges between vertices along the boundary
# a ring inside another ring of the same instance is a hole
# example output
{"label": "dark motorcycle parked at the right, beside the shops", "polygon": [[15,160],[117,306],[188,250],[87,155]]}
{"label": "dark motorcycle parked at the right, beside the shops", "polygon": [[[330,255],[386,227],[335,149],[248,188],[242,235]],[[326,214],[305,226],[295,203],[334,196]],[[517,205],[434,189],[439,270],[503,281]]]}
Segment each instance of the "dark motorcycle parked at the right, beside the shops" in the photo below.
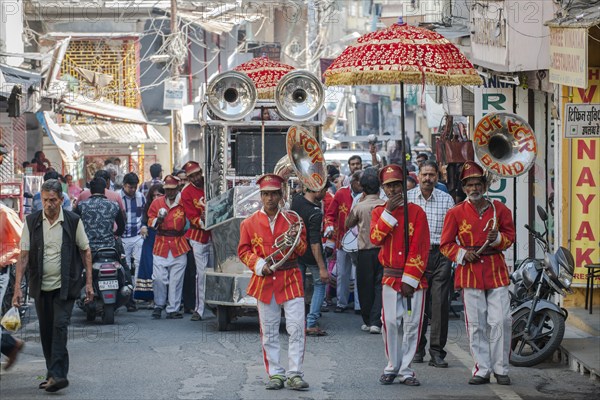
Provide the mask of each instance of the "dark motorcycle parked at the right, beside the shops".
{"label": "dark motorcycle parked at the right, beside the shops", "polygon": [[562,342],[568,312],[552,302],[555,294],[572,293],[575,261],[571,252],[559,247],[552,254],[548,244],[548,215],[538,206],[545,232],[525,228],[544,248],[544,259],[527,258],[512,273],[512,351],[510,363],[531,367],[550,357]]}

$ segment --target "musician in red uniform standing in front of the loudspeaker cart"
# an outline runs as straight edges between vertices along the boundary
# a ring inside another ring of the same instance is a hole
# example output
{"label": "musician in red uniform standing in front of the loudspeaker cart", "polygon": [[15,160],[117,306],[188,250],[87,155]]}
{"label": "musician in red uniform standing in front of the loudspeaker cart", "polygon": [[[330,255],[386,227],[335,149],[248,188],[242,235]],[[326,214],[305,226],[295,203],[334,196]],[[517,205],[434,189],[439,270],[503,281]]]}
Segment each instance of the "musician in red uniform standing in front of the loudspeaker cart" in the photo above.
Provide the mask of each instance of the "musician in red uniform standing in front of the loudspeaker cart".
{"label": "musician in red uniform standing in front of the loudspeaker cart", "polygon": [[302,360],[304,358],[304,287],[297,257],[307,249],[306,230],[302,227],[298,246],[290,258],[275,271],[270,267],[282,255],[269,257],[276,251],[278,236],[296,236],[298,228],[292,228],[298,217],[281,210],[283,178],[275,174],[265,174],[257,180],[263,208],[245,219],[240,226],[238,255],[240,260],[253,272],[246,289],[248,295],[256,298],[263,360],[269,382],[266,389],[282,389],[286,380],[286,370],[279,360],[279,322],[281,308],[285,313],[286,330],[289,334],[287,384],[295,390],[308,388],[303,379]]}

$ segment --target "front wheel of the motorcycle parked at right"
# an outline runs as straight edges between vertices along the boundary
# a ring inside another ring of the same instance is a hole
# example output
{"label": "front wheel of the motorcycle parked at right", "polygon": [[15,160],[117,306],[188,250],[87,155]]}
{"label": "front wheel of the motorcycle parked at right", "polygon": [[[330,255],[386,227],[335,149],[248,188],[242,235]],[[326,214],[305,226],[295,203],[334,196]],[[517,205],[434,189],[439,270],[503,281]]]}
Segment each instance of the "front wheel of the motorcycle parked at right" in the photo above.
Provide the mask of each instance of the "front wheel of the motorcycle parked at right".
{"label": "front wheel of the motorcycle parked at right", "polygon": [[552,356],[565,334],[564,317],[553,310],[543,309],[535,313],[525,335],[529,309],[513,316],[510,363],[517,367],[531,367]]}

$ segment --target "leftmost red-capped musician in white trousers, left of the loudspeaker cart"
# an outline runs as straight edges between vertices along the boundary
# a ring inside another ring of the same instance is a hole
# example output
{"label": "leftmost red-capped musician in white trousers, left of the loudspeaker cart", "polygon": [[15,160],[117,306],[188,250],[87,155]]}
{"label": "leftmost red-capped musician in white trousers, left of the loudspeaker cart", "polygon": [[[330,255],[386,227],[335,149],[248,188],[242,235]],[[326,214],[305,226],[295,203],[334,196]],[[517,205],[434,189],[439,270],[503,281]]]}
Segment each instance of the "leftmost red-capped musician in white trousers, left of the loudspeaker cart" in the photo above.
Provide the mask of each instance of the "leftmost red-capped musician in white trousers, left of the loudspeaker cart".
{"label": "leftmost red-capped musician in white trousers, left of the loudspeaker cart", "polygon": [[[167,175],[163,188],[165,195],[155,199],[148,210],[148,226],[156,229],[154,242],[154,311],[152,318],[160,319],[166,306],[168,319],[181,319],[179,312],[183,274],[190,245],[184,237],[185,210],[181,205],[181,193],[177,187],[179,179]],[[166,212],[166,215],[165,215]],[[167,304],[167,286],[169,290]]]}

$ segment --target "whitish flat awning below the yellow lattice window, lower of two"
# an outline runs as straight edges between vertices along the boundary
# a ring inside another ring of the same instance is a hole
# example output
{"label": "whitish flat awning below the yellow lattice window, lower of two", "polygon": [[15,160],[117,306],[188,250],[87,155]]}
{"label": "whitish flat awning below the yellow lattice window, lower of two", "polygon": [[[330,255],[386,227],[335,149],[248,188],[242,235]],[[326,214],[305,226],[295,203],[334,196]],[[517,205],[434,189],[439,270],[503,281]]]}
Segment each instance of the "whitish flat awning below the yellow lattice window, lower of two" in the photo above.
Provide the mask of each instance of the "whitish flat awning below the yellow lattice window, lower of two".
{"label": "whitish flat awning below the yellow lattice window, lower of two", "polygon": [[152,125],[94,124],[70,125],[83,143],[98,144],[166,144],[167,141]]}

